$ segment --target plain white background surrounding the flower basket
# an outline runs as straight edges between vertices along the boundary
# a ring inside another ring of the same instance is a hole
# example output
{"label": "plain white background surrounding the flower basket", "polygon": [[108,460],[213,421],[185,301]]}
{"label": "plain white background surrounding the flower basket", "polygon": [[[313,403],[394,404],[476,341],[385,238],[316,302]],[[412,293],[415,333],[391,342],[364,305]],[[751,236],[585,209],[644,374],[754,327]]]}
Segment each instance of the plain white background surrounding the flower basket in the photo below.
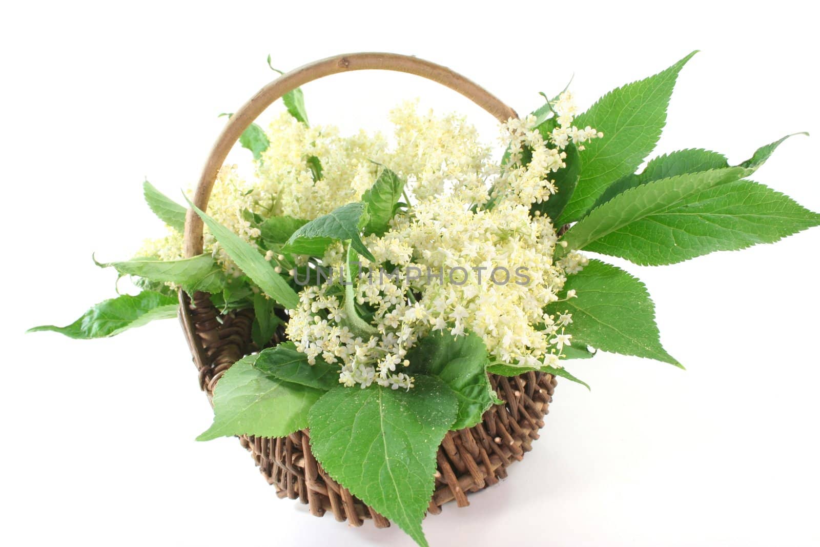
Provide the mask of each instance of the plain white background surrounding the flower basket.
{"label": "plain white background surrounding the flower basket", "polygon": [[[127,258],[160,232],[144,176],[171,195],[191,185],[224,124],[216,115],[272,79],[268,53],[283,69],[414,54],[523,113],[573,73],[586,107],[700,48],[658,153],[704,147],[740,162],[781,135],[820,134],[816,20],[804,9],[6,4],[0,543],[411,545],[396,528],[348,529],[277,499],[235,440],[194,442],[211,410],[175,321],[110,340],[23,335],[112,296],[114,275],[91,253]],[[490,116],[409,75],[338,75],[304,92],[314,123],[343,130],[385,127],[389,107],[421,96],[495,135]],[[818,137],[791,139],[755,178],[818,211],[818,152]],[[427,519],[431,544],[818,545],[818,245],[815,229],[672,267],[627,265],[688,370],[614,355],[576,365],[591,393],[560,382],[535,450],[470,508]]]}

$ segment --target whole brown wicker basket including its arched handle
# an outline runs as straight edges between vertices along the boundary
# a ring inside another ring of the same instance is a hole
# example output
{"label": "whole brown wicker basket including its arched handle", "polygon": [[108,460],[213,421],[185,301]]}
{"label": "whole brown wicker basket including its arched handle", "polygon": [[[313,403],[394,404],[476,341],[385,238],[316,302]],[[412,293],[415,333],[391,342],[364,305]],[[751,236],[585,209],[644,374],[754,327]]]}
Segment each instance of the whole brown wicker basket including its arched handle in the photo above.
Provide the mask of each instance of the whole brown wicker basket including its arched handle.
{"label": "whole brown wicker basket including its arched handle", "polygon": [[[499,121],[517,117],[485,89],[448,68],[389,53],[353,53],[330,57],[302,66],[267,84],[248,101],[225,125],[207,159],[199,180],[194,204],[203,211],[207,207],[217,171],[239,135],[256,117],[285,93],[309,81],[326,75],[357,70],[400,71],[434,80],[462,93],[490,112]],[[203,252],[203,224],[189,211],[185,224],[185,255],[193,257]],[[239,358],[257,351],[251,341],[253,310],[241,310],[221,315],[212,305],[209,295],[194,294],[193,299],[180,292],[180,321],[194,355],[199,372],[199,385],[211,399],[216,382]],[[283,315],[283,319],[287,317]],[[273,336],[269,345],[285,340],[283,330]],[[549,374],[527,372],[511,378],[491,375],[490,381],[499,398],[506,403],[494,405],[477,426],[461,431],[449,431],[438,452],[435,493],[428,511],[440,513],[441,506],[455,499],[458,507],[469,504],[467,493],[493,485],[507,476],[506,468],[531,449],[544,426],[555,388]],[[339,485],[313,458],[309,433],[298,431],[280,439],[240,437],[240,443],[253,455],[267,481],[276,486],[280,497],[300,499],[309,504],[312,514],[322,516],[331,511],[336,520],[347,520],[361,526],[372,518],[376,527],[389,526],[389,521]]]}

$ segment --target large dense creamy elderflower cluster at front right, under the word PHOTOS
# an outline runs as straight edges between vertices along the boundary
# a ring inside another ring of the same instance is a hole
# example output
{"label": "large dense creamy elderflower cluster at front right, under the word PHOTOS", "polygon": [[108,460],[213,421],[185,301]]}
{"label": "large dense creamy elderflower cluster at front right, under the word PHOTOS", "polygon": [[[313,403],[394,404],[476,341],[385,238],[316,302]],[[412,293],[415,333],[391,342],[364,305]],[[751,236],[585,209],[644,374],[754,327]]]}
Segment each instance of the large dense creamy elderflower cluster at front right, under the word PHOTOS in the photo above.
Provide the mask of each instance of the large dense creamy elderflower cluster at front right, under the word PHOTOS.
{"label": "large dense creamy elderflower cluster at front right, under the word PHOTOS", "polygon": [[431,276],[424,287],[419,302],[432,330],[471,330],[499,362],[544,364],[549,337],[562,325],[543,308],[558,299],[565,280],[552,263],[557,236],[549,218],[530,217],[529,207],[512,200],[472,212],[458,199],[442,199],[420,203],[394,230],[424,271],[463,274],[444,282]]}

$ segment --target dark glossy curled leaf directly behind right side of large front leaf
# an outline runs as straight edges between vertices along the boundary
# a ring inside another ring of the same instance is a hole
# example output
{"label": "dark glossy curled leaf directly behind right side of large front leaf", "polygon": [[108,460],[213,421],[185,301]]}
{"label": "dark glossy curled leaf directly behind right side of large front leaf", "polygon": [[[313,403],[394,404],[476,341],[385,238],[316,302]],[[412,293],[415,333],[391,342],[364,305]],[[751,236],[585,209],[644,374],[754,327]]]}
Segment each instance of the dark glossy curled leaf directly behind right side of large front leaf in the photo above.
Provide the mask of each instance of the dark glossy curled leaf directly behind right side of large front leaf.
{"label": "dark glossy curled leaf directly behind right side of large front leaf", "polygon": [[441,331],[422,338],[407,355],[411,375],[427,374],[449,385],[458,398],[458,417],[450,426],[475,426],[498,399],[487,377],[487,349],[481,336],[469,332],[454,338]]}

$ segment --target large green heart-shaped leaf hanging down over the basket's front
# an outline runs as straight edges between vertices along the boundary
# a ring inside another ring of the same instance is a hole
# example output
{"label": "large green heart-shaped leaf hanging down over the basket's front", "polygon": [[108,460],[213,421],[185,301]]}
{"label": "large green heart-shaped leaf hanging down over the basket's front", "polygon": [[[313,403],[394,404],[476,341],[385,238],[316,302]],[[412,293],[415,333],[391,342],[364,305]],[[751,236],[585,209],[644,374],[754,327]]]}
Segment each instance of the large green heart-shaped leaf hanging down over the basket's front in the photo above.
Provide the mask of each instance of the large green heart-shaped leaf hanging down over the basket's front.
{"label": "large green heart-shaped leaf hanging down over the basket's front", "polygon": [[456,417],[452,390],[417,376],[409,391],[339,386],[311,408],[311,446],[339,484],[427,546],[421,519],[435,487],[435,454]]}

